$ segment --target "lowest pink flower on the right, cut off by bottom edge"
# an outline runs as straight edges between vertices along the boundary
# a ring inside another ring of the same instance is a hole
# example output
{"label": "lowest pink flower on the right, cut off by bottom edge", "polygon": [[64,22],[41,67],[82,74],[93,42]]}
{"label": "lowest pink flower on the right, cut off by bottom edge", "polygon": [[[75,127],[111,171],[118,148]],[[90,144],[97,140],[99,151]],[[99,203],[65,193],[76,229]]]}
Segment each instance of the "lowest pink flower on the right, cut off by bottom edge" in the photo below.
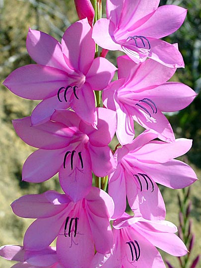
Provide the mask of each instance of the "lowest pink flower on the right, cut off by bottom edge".
{"label": "lowest pink flower on the right, cut off by bottom edge", "polygon": [[149,221],[124,213],[113,224],[113,254],[97,253],[90,268],[165,268],[155,247],[173,256],[188,252],[175,232],[177,227],[169,221]]}

